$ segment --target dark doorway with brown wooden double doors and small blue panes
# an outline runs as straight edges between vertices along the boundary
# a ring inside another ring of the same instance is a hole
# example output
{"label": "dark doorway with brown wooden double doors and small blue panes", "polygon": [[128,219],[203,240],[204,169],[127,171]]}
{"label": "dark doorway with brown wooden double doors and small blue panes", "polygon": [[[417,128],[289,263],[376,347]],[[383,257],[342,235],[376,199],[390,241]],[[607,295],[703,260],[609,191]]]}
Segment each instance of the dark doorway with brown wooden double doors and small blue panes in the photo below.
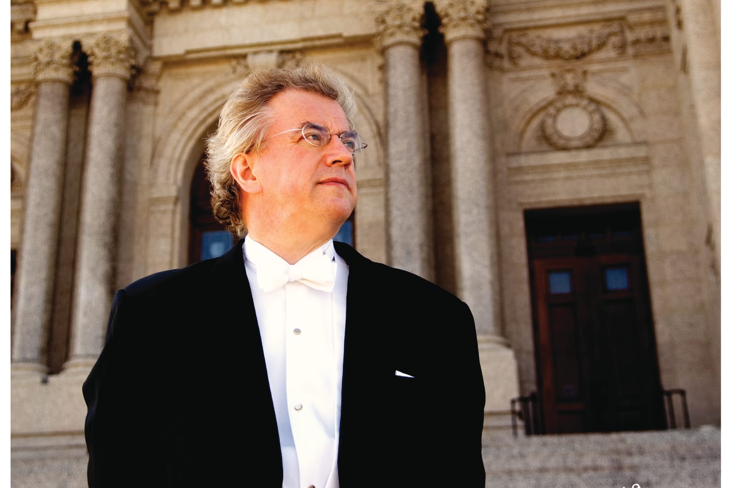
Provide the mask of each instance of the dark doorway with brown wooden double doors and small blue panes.
{"label": "dark doorway with brown wooden double doors and small blue panes", "polygon": [[525,218],[545,432],[665,428],[639,205]]}

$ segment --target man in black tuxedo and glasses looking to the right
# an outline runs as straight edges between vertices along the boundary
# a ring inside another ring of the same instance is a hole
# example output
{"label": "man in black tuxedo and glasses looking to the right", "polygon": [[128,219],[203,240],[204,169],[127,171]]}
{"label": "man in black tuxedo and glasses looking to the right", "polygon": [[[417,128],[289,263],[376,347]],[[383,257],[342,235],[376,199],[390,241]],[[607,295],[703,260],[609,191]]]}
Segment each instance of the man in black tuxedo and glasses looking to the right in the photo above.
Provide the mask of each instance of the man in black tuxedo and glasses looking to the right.
{"label": "man in black tuxedo and glasses looking to the right", "polygon": [[254,71],[224,105],[211,202],[246,239],[116,294],[83,388],[90,487],[484,486],[469,308],[333,244],[354,113],[317,66]]}

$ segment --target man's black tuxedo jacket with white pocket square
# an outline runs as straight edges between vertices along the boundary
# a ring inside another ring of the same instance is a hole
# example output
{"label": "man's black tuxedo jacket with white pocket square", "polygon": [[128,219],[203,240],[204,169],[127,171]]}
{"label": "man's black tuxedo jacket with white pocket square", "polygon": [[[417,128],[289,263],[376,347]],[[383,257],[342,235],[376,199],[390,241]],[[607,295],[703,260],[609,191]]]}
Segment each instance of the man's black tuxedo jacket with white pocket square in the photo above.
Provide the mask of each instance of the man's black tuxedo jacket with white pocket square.
{"label": "man's black tuxedo jacket with white pocket square", "polygon": [[[242,243],[116,294],[83,386],[90,487],[281,488]],[[484,487],[469,308],[346,244],[336,251],[349,266],[340,486]]]}

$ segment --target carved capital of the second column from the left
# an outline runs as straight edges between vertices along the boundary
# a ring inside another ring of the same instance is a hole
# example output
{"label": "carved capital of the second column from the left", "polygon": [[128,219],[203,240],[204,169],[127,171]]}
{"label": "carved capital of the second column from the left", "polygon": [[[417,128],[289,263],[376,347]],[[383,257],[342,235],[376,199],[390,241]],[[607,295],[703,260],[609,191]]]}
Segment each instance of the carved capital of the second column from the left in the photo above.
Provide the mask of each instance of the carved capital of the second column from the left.
{"label": "carved capital of the second column from the left", "polygon": [[135,49],[129,37],[124,34],[101,34],[85,42],[88,45],[91,75],[116,76],[129,80]]}

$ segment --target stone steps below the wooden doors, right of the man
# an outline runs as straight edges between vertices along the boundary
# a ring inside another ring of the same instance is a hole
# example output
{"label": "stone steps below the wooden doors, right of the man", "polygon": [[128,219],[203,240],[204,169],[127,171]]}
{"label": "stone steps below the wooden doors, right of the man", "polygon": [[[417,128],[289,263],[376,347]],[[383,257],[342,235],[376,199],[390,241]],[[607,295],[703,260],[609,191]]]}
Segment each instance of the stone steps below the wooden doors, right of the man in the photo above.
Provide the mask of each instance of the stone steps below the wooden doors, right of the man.
{"label": "stone steps below the wooden doors, right of the man", "polygon": [[486,487],[711,488],[721,483],[718,427],[535,435],[482,448]]}

